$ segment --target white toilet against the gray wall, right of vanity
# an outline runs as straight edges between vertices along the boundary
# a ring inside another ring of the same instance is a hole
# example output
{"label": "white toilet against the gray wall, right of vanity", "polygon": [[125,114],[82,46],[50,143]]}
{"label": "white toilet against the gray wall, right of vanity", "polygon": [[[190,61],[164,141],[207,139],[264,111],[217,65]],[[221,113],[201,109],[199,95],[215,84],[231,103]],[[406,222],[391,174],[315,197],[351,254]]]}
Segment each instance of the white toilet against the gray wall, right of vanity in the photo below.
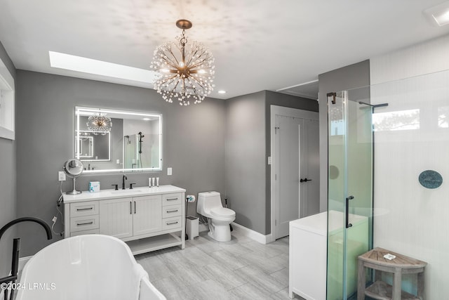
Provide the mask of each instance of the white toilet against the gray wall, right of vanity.
{"label": "white toilet against the gray wall, right of vanity", "polygon": [[220,193],[198,193],[196,212],[208,219],[208,235],[218,242],[231,240],[229,224],[236,219],[236,213],[232,209],[223,207]]}

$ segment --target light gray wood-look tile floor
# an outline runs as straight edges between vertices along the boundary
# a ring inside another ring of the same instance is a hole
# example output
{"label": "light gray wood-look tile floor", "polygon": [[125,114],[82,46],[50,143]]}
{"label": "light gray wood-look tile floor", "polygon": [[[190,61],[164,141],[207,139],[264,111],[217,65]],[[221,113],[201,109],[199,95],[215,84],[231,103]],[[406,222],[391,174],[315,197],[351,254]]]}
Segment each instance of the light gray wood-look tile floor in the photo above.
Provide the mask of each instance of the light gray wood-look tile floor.
{"label": "light gray wood-look tile floor", "polygon": [[216,242],[202,232],[183,250],[171,247],[135,259],[168,300],[290,299],[288,237],[260,244],[234,230],[230,242]]}

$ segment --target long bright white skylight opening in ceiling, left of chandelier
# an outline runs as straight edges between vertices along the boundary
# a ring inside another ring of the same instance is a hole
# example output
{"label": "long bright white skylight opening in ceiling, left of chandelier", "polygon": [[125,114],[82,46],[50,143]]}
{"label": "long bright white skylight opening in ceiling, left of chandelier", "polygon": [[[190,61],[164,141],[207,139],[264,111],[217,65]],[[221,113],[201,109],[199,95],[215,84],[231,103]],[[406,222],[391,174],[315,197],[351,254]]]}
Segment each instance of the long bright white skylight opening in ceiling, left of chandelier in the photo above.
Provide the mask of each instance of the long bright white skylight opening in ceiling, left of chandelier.
{"label": "long bright white skylight opening in ceiling, left of chandelier", "polygon": [[102,75],[132,81],[152,83],[159,76],[154,71],[139,69],[138,67],[128,67],[116,63],[107,63],[102,60],[72,56],[65,53],[48,51],[51,67],[72,70],[77,72]]}

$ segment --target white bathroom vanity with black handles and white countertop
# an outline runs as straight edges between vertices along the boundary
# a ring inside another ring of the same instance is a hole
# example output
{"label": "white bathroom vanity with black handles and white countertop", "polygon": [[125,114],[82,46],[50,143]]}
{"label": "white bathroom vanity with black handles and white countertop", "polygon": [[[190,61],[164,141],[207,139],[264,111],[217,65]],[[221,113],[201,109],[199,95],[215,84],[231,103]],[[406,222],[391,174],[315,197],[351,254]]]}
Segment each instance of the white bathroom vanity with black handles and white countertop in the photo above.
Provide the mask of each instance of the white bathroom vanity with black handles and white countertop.
{"label": "white bathroom vanity with black handles and white countertop", "polygon": [[185,248],[185,189],[174,185],[63,195],[65,237],[118,237],[134,255]]}

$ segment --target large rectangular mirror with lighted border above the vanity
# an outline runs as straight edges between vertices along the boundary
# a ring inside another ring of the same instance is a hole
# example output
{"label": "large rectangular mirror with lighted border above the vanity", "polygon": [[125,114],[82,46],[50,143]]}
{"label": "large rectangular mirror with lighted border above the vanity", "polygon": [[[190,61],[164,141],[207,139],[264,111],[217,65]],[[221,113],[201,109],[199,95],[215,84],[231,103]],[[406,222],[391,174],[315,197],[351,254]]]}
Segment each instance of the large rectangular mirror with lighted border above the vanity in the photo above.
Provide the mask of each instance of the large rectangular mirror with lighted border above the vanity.
{"label": "large rectangular mirror with lighted border above the vanity", "polygon": [[162,115],[75,107],[74,157],[85,173],[161,171]]}

